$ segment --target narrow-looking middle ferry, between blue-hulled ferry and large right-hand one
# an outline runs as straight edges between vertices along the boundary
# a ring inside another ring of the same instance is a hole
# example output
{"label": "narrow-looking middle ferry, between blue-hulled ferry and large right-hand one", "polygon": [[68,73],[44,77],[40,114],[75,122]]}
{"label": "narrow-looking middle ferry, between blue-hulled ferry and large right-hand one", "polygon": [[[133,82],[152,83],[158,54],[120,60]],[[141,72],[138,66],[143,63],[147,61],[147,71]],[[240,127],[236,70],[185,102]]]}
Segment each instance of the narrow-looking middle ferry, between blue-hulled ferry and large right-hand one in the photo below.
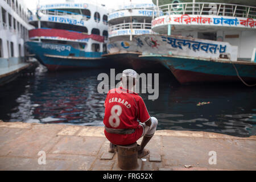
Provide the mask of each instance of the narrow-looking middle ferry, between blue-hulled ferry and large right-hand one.
{"label": "narrow-looking middle ferry, between blue-hulled ferry and large right-hand one", "polygon": [[109,13],[108,54],[104,55],[115,61],[115,65],[123,68],[148,69],[160,65],[157,61],[145,61],[138,49],[135,36],[154,34],[151,21],[155,5],[152,3],[119,7]]}

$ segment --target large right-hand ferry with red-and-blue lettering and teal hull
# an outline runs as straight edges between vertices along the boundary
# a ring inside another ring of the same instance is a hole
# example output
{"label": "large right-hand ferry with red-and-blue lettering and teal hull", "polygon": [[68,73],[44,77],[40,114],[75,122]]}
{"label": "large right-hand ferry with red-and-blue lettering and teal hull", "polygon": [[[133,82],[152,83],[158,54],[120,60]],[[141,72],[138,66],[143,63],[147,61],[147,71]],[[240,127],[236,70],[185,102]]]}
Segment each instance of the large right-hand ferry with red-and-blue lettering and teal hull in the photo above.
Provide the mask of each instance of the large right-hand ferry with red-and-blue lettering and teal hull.
{"label": "large right-hand ferry with red-and-blue lettering and teal hull", "polygon": [[[254,1],[156,0],[152,31],[138,48],[158,60],[181,84],[242,81],[256,83],[256,7]],[[147,45],[151,40],[155,44]]]}

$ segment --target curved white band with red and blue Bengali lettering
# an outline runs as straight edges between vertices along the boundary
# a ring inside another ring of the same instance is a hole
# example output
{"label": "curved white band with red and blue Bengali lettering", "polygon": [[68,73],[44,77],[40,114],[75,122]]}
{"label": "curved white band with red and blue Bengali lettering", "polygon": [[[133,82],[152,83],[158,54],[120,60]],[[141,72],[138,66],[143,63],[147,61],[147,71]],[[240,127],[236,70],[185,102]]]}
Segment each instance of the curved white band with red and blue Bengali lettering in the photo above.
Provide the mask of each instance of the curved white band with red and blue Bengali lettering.
{"label": "curved white band with red and blue Bengali lettering", "polygon": [[216,15],[166,15],[152,20],[152,30],[166,24],[256,28],[256,19]]}

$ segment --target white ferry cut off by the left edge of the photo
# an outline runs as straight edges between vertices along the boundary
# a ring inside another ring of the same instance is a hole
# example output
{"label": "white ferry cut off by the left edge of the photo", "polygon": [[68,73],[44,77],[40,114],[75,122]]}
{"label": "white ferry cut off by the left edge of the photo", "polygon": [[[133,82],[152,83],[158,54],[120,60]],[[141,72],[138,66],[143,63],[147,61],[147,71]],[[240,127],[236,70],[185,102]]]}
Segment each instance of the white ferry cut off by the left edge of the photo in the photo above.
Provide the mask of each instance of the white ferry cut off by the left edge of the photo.
{"label": "white ferry cut off by the left edge of the photo", "polygon": [[0,0],[0,85],[13,81],[31,67],[24,48],[31,28],[23,1]]}

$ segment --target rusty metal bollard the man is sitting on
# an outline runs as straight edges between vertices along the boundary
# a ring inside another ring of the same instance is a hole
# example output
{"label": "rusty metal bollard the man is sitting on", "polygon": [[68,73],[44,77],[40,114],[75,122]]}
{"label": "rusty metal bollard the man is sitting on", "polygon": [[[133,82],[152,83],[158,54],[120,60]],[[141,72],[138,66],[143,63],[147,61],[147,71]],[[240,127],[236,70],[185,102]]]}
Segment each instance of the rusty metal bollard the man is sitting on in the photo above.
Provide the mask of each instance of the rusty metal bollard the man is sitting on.
{"label": "rusty metal bollard the man is sitting on", "polygon": [[137,168],[138,150],[137,142],[129,146],[117,146],[118,167],[125,170]]}

